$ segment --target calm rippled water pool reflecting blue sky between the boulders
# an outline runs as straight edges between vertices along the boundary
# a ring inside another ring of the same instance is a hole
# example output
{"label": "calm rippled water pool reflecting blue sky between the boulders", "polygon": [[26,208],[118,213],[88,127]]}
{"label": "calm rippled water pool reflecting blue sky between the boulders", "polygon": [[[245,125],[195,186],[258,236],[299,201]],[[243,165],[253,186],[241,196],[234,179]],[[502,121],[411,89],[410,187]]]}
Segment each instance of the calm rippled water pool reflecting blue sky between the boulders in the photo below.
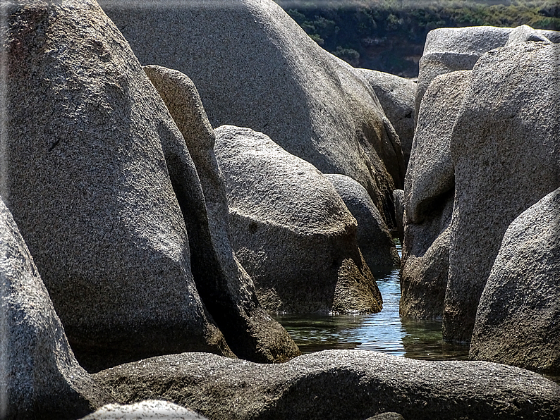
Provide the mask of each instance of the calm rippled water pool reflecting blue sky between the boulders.
{"label": "calm rippled water pool reflecting blue sky between the boulders", "polygon": [[[398,270],[374,273],[383,310],[370,315],[277,315],[303,354],[321,350],[375,350],[422,360],[467,360],[468,345],[444,342],[442,321],[401,319]],[[556,383],[560,377],[547,376]]]}

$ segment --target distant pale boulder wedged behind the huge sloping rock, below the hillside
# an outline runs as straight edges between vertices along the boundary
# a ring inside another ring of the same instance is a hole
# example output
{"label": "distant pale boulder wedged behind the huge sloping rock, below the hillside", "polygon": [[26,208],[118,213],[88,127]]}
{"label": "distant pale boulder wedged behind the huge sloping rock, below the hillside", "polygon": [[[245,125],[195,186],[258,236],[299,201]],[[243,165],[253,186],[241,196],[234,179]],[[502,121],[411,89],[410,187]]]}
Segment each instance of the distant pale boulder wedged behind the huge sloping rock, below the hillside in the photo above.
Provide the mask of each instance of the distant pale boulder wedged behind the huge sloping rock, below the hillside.
{"label": "distant pale boulder wedged behind the huge sloping rock, below the hillside", "polygon": [[399,140],[405,166],[408,166],[414,138],[416,82],[382,71],[359,68],[360,74],[374,90],[379,103]]}

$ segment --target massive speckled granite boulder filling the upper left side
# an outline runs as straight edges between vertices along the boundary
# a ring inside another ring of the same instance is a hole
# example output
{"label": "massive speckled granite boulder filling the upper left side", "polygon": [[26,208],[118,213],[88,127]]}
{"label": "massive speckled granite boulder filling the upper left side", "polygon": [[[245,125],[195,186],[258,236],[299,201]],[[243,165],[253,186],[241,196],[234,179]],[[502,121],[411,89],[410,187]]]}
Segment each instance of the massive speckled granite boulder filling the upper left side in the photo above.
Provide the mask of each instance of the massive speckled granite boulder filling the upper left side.
{"label": "massive speckled granite boulder filling the upper left side", "polygon": [[94,1],[14,2],[6,16],[0,190],[80,364],[231,354],[197,293],[166,160],[182,159],[204,208],[200,181],[128,43]]}

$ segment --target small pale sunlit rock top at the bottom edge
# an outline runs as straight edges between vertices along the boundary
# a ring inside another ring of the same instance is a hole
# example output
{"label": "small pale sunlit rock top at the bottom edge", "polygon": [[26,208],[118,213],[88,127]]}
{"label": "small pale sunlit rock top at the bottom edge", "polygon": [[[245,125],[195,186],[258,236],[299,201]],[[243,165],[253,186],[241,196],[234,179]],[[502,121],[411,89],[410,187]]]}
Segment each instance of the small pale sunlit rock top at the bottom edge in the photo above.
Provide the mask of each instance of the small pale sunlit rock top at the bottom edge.
{"label": "small pale sunlit rock top at the bottom edge", "polygon": [[206,417],[169,401],[145,400],[135,404],[107,404],[80,420],[207,420]]}

